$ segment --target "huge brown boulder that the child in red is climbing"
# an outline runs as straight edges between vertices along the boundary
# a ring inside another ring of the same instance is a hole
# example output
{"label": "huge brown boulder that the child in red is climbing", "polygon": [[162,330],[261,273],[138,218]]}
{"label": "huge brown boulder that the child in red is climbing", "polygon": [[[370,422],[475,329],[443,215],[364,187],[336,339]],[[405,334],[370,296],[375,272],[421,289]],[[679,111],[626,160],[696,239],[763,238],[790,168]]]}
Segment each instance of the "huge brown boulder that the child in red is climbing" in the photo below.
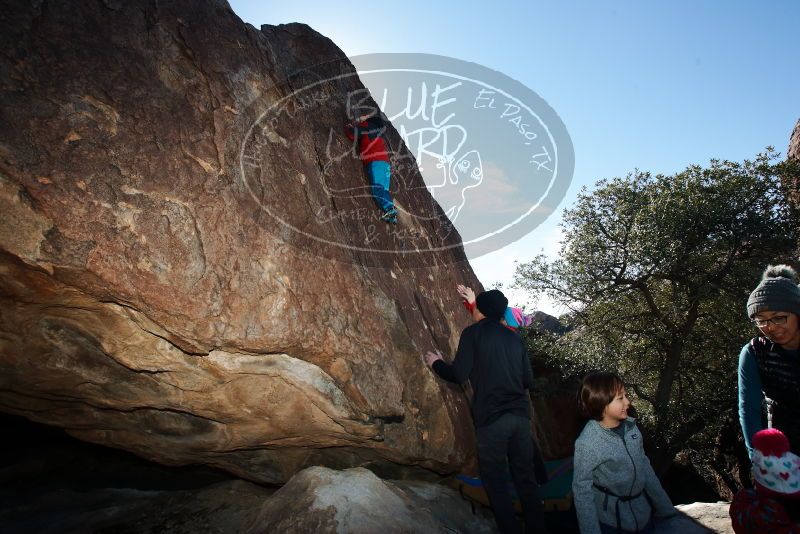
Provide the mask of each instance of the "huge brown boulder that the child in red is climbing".
{"label": "huge brown boulder that the child in red is climbing", "polygon": [[[398,204],[430,217],[401,213],[405,234],[369,195],[332,194],[365,184],[328,157],[363,89],[342,52],[222,1],[12,4],[0,409],[262,482],[460,466],[467,403],[420,354],[451,353],[454,288],[479,284],[415,170]],[[314,80],[321,96],[293,92]],[[420,239],[437,252],[408,252]]]}

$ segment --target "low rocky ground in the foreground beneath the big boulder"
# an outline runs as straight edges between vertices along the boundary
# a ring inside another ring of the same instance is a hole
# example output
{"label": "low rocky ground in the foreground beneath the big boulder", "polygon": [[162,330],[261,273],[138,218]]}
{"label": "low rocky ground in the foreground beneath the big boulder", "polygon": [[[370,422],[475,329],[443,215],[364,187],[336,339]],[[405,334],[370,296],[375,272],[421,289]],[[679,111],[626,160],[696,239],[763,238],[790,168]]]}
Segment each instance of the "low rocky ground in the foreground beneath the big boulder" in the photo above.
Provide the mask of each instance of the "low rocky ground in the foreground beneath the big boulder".
{"label": "low rocky ground in the foreground beneath the big boulder", "polygon": [[235,480],[185,490],[49,491],[0,510],[4,532],[497,532],[488,510],[472,512],[454,490],[383,481],[355,468],[312,467],[277,492]]}

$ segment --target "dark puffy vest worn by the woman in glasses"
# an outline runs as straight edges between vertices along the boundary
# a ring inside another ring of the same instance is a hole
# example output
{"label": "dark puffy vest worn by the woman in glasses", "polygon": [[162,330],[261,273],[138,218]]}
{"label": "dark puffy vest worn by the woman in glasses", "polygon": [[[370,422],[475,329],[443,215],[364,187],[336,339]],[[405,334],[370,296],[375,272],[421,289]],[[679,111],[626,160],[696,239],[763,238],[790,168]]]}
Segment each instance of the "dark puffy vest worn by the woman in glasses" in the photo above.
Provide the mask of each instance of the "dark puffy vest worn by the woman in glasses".
{"label": "dark puffy vest worn by the woman in glasses", "polygon": [[792,450],[800,450],[800,361],[781,354],[765,337],[750,342],[758,363],[761,387],[773,405],[772,426],[786,434]]}

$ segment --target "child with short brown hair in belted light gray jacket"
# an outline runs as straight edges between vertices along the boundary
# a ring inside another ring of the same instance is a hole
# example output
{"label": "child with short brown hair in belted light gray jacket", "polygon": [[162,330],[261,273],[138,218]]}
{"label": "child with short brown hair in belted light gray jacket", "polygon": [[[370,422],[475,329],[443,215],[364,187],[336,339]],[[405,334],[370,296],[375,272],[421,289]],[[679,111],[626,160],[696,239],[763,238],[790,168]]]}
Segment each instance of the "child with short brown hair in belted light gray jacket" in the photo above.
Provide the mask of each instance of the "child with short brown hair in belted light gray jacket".
{"label": "child with short brown hair in belted light gray jacket", "polygon": [[644,454],[642,433],[628,417],[622,380],[613,373],[586,376],[578,405],[590,418],[575,442],[572,493],[581,532],[652,532],[653,512],[677,512]]}

